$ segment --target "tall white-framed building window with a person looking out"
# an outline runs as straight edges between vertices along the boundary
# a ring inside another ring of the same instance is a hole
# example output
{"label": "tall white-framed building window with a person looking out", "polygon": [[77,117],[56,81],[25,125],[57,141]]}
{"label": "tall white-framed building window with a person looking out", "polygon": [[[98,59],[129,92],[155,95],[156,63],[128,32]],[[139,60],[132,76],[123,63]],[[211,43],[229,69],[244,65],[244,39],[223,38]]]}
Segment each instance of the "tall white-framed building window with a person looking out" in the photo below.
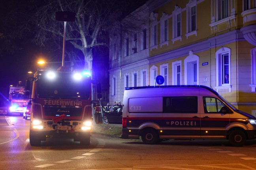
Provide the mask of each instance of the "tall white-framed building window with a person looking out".
{"label": "tall white-framed building window with a person looking out", "polygon": [[231,88],[230,55],[231,50],[227,47],[222,47],[216,52],[216,89],[219,89],[218,87]]}

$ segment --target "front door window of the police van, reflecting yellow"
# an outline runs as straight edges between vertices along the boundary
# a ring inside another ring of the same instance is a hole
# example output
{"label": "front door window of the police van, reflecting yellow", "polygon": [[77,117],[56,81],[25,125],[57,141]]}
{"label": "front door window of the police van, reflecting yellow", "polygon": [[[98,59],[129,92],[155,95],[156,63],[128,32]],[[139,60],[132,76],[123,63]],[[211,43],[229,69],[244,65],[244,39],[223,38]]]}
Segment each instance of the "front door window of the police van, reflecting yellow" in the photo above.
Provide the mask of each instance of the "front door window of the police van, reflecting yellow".
{"label": "front door window of the police van, reflecting yellow", "polygon": [[217,98],[203,97],[203,107],[205,113],[220,113],[223,106],[225,106],[224,103]]}

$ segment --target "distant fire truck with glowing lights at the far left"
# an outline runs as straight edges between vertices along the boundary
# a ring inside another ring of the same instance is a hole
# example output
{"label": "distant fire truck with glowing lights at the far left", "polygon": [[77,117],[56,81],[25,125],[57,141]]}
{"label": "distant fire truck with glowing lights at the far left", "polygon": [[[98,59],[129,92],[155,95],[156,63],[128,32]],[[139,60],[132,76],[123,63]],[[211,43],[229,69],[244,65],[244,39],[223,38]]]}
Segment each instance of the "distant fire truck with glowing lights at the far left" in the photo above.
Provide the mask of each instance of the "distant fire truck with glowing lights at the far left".
{"label": "distant fire truck with glowing lights at the far left", "polygon": [[9,88],[9,104],[7,114],[19,113],[23,115],[24,107],[28,99],[26,98],[25,87],[10,86]]}

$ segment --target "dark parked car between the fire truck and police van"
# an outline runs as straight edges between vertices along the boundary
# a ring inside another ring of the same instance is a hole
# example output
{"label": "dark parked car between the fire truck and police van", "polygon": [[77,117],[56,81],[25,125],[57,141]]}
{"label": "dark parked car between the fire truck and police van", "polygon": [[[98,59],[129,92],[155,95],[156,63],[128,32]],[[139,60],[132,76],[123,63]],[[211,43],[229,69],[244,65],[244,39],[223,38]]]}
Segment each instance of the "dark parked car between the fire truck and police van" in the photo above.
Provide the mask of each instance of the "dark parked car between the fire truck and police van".
{"label": "dark parked car between the fire truck and police van", "polygon": [[104,124],[122,124],[122,108],[117,109],[116,112],[108,112],[103,114]]}

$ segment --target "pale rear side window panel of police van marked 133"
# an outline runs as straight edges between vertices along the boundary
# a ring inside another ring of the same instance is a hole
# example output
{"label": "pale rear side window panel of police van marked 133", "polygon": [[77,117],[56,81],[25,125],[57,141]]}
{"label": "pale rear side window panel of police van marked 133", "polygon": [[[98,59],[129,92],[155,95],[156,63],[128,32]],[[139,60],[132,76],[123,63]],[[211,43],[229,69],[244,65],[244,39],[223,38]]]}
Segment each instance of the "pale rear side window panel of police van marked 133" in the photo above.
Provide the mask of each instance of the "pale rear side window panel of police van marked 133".
{"label": "pale rear side window panel of police van marked 133", "polygon": [[130,113],[162,113],[162,97],[129,98]]}

